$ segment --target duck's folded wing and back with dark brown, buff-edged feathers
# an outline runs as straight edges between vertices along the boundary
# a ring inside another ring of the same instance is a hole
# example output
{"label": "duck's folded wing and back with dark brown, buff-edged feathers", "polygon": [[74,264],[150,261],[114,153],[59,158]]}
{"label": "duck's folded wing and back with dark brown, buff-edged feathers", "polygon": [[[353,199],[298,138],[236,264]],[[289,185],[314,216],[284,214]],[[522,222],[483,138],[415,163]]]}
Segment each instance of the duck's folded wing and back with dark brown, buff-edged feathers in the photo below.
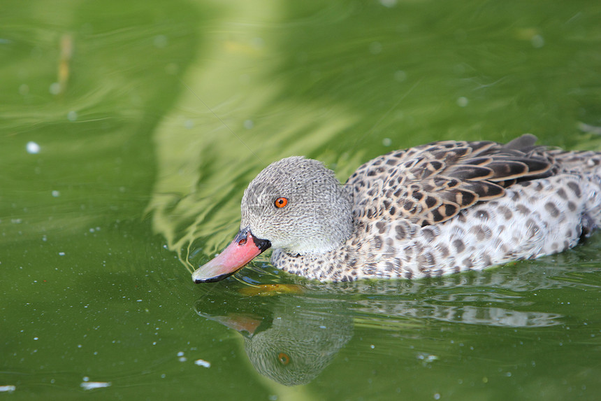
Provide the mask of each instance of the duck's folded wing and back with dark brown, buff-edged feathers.
{"label": "duck's folded wing and back with dark brown, buff-edged feathers", "polygon": [[346,185],[359,219],[442,223],[476,202],[501,197],[518,181],[552,174],[553,157],[525,134],[493,141],[439,141],[396,150],[363,164]]}

